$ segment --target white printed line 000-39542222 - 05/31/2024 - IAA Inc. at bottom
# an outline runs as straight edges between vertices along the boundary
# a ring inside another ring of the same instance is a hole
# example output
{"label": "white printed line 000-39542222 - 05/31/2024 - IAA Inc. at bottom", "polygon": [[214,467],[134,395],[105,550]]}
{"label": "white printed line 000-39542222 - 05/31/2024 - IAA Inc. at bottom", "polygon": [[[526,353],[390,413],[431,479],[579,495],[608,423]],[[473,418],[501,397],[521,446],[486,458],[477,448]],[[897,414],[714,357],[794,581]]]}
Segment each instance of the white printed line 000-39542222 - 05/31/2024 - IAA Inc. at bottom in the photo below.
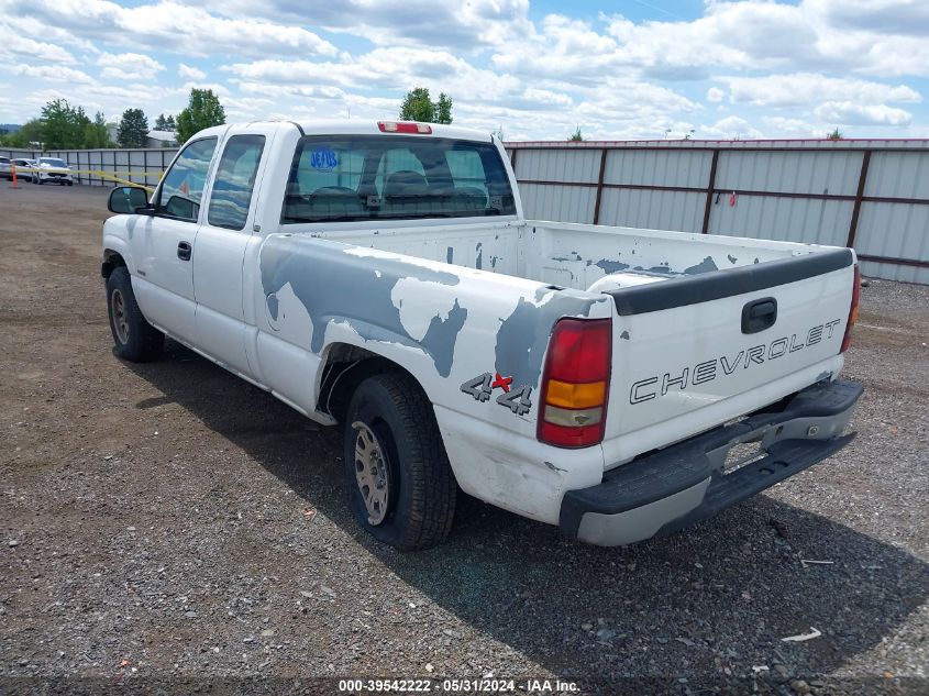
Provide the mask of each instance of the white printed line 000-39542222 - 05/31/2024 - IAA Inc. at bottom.
{"label": "white printed line 000-39542222 - 05/31/2024 - IAA Inc. at bottom", "polygon": [[436,693],[436,694],[554,694],[579,692],[575,682],[562,680],[340,680],[339,693]]}

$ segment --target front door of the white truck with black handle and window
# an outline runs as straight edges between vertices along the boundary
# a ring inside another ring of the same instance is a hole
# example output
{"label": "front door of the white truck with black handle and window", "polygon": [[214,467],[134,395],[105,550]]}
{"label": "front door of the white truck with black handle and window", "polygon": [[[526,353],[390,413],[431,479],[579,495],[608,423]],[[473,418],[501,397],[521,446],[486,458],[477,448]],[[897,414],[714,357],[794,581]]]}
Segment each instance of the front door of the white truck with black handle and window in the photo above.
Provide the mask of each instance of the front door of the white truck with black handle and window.
{"label": "front door of the white truck with black handle and window", "polygon": [[193,243],[215,148],[217,137],[187,145],[162,179],[154,214],[140,216],[130,232],[132,288],[145,318],[187,343],[195,339]]}

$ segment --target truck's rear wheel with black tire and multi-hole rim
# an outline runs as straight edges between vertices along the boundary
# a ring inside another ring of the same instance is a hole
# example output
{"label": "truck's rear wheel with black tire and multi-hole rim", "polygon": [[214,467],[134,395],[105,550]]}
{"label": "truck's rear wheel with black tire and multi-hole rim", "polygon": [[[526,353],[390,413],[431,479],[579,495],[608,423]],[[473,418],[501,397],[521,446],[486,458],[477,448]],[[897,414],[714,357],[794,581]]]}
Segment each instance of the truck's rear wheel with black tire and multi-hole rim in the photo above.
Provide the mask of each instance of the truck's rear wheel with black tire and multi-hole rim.
{"label": "truck's rear wheel with black tire and multi-hole rim", "polygon": [[364,380],[345,418],[345,479],[352,513],[401,551],[444,541],[457,486],[432,405],[406,375]]}

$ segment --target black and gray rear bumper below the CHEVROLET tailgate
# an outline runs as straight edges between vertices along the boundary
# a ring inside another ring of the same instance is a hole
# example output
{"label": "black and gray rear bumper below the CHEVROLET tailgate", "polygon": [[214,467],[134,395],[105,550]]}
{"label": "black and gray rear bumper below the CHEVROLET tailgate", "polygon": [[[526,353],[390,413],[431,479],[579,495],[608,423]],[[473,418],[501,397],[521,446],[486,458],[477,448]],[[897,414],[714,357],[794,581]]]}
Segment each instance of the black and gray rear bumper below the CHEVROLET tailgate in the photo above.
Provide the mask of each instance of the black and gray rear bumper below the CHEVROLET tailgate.
{"label": "black and gray rear bumper below the CHEVROLET tailgate", "polygon": [[[863,387],[819,383],[777,411],[759,412],[607,472],[571,490],[558,523],[572,539],[612,546],[676,531],[797,474],[845,446]],[[723,474],[730,449],[761,442],[762,459]]]}

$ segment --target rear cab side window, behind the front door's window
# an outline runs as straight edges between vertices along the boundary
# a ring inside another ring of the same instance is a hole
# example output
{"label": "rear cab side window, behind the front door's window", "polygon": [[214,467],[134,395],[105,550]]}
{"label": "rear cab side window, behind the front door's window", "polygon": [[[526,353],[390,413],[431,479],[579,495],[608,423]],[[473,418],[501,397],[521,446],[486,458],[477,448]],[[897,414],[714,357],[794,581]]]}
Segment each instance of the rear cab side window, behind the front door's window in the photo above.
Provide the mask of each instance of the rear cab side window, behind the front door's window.
{"label": "rear cab side window, behind the front door's window", "polygon": [[245,228],[264,148],[264,135],[233,135],[229,139],[210,194],[207,211],[210,224],[226,230]]}

